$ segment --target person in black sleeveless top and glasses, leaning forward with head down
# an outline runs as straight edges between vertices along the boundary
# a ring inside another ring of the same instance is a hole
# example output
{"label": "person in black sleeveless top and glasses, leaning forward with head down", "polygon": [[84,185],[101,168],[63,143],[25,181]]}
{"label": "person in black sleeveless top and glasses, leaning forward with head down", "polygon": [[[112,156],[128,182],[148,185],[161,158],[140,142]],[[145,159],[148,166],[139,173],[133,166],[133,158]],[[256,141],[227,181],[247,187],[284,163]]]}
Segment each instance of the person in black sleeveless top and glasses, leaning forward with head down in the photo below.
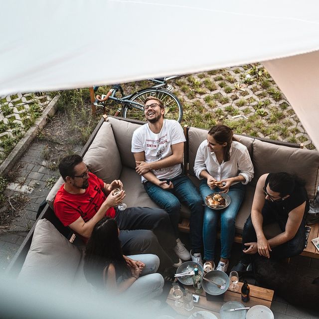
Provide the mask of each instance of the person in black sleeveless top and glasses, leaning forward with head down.
{"label": "person in black sleeveless top and glasses, leaning forward with head down", "polygon": [[[260,176],[255,190],[251,215],[244,230],[241,258],[232,270],[245,270],[250,256],[276,259],[299,255],[305,248],[305,214],[309,201],[304,183],[286,172]],[[282,233],[266,239],[263,226],[277,221]]]}

